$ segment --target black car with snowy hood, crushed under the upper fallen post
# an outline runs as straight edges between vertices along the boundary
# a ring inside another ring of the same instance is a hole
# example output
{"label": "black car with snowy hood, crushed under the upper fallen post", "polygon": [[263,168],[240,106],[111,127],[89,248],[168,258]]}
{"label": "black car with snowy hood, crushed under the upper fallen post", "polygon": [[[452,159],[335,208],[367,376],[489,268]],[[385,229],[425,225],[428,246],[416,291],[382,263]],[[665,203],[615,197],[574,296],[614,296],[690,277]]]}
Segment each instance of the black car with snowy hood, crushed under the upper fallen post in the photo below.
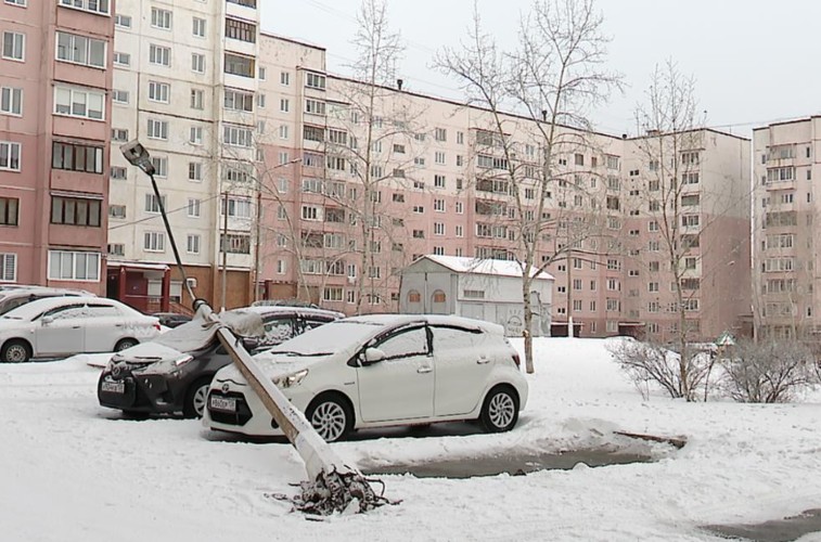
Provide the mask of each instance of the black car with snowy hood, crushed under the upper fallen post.
{"label": "black car with snowy hood, crushed under the upper fallen post", "polygon": [[[279,345],[344,314],[297,307],[249,307],[221,318],[249,351]],[[216,330],[196,317],[151,343],[114,354],[100,375],[100,404],[129,414],[182,412],[201,417],[214,374],[231,363]]]}

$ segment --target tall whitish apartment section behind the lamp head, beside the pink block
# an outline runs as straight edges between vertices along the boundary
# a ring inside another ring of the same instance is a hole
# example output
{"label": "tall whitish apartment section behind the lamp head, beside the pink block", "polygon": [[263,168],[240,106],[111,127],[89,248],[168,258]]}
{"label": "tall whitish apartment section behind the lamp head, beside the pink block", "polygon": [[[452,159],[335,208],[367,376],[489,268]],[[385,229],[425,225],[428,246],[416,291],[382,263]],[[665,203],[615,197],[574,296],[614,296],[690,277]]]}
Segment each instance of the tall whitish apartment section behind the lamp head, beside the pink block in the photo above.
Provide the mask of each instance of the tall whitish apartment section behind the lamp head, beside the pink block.
{"label": "tall whitish apartment section behind the lamp head, beside the pink block", "polygon": [[[180,256],[215,307],[252,297],[249,164],[258,132],[255,0],[120,2],[114,15],[108,293],[143,310],[183,287],[149,178],[118,146],[151,153]],[[225,250],[222,249],[225,247]],[[170,281],[169,281],[170,278]]]}

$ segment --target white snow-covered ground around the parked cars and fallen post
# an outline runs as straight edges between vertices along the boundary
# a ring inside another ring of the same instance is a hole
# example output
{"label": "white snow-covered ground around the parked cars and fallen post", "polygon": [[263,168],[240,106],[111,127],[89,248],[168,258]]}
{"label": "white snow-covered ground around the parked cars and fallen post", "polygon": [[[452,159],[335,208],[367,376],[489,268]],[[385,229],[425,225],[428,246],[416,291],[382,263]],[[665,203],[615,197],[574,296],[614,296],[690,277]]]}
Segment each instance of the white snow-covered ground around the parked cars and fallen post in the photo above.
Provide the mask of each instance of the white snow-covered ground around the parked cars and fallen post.
{"label": "white snow-covered ground around the parked cars and fallen post", "polygon": [[821,507],[821,395],[783,405],[644,401],[604,345],[536,339],[530,401],[512,433],[386,431],[334,450],[354,463],[471,461],[623,443],[614,429],[683,435],[687,447],[654,444],[654,463],[528,476],[384,476],[401,505],[324,521],[266,496],[305,478],[286,443],[214,439],[195,421],[121,420],[98,405],[99,369],[85,357],[0,365],[0,540],[707,541],[719,539],[700,525]]}

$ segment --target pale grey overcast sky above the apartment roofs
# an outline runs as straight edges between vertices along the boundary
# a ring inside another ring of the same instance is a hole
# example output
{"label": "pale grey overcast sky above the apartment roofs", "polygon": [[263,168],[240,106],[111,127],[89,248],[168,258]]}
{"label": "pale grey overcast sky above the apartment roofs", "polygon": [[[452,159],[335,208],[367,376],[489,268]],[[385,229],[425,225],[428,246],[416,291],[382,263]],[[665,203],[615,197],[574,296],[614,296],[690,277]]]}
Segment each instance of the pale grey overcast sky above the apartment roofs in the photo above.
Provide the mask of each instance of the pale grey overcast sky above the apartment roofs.
{"label": "pale grey overcast sky above the apartment roofs", "polygon": [[[347,75],[360,0],[261,0],[262,29],[328,50],[329,72]],[[500,44],[513,46],[531,0],[478,0]],[[406,43],[406,88],[460,98],[456,81],[431,68],[435,51],[458,46],[472,0],[389,0],[392,27]],[[707,124],[749,136],[753,127],[821,113],[821,2],[817,0],[598,0],[612,36],[611,68],[624,93],[593,112],[596,128],[634,132],[633,111],[654,66],[674,59],[696,79]],[[491,26],[492,25],[492,26]]]}

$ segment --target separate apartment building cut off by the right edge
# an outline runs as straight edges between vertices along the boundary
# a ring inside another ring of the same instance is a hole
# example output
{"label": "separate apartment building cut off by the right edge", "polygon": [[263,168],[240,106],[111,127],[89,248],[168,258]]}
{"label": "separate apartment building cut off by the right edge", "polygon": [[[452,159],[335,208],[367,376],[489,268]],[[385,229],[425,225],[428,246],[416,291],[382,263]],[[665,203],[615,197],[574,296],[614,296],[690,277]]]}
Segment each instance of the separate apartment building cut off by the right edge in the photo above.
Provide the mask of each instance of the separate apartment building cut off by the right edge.
{"label": "separate apartment building cut off by the right edge", "polygon": [[761,337],[821,338],[813,195],[820,133],[818,116],[753,131],[753,300]]}

